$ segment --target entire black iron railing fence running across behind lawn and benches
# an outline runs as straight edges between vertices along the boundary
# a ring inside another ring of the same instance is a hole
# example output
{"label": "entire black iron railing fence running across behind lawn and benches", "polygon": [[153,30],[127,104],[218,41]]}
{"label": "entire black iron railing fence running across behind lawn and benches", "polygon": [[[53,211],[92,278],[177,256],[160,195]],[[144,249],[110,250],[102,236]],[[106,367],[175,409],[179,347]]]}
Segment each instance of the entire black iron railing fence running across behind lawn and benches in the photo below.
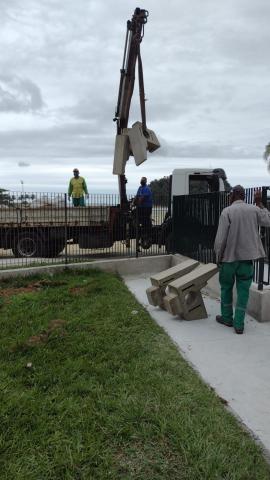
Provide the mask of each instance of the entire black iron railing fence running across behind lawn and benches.
{"label": "entire black iron railing fence running across behind lawn and benches", "polygon": [[[246,190],[248,203],[255,190]],[[263,187],[265,205],[268,193]],[[176,196],[170,215],[168,194],[155,195],[151,209],[132,197],[120,207],[111,194],[92,194],[74,206],[66,194],[1,191],[0,269],[171,252],[213,262],[220,213],[228,205],[226,192]],[[262,289],[270,284],[270,229],[260,234],[266,258],[255,262],[254,281]]]}

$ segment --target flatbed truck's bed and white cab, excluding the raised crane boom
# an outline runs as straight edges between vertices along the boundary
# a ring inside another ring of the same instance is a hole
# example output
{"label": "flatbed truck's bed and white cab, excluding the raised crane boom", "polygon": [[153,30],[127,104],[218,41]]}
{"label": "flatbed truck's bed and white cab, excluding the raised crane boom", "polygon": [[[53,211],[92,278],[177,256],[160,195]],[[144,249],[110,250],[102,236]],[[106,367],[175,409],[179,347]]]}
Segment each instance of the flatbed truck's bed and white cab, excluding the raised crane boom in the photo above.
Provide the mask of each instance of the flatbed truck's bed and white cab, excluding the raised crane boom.
{"label": "flatbed truck's bed and white cab, excluding the raised crane boom", "polygon": [[[169,177],[170,194],[166,214],[140,236],[142,249],[152,244],[172,245],[172,202],[177,195],[224,191],[224,181],[211,169],[175,169]],[[123,206],[90,205],[69,207],[67,196],[43,204],[5,201],[0,198],[0,248],[11,249],[16,257],[56,257],[66,243],[83,249],[110,248],[121,241],[128,248],[140,231],[132,201]],[[62,204],[64,203],[64,205]]]}

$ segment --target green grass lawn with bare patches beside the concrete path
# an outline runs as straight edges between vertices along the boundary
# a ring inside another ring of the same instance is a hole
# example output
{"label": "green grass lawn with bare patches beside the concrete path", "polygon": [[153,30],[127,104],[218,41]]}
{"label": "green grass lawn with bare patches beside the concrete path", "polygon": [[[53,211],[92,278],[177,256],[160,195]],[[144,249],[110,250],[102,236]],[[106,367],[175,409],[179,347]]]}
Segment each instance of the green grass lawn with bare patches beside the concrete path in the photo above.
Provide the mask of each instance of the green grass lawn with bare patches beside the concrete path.
{"label": "green grass lawn with bare patches beside the concrete path", "polygon": [[1,479],[270,479],[118,277],[2,281],[0,318]]}

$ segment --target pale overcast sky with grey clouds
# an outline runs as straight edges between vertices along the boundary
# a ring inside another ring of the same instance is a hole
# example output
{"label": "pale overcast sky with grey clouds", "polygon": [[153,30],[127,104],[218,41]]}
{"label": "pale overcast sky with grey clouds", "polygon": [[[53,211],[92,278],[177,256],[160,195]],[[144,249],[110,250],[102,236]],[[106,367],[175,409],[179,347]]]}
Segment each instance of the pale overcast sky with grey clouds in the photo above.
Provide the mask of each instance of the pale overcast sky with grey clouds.
{"label": "pale overcast sky with grey clouds", "polygon": [[[0,0],[0,187],[90,192],[112,175],[126,21],[149,10],[142,59],[148,127],[162,148],[127,165],[128,193],[180,167],[270,184],[269,0]],[[135,90],[130,125],[140,120]]]}

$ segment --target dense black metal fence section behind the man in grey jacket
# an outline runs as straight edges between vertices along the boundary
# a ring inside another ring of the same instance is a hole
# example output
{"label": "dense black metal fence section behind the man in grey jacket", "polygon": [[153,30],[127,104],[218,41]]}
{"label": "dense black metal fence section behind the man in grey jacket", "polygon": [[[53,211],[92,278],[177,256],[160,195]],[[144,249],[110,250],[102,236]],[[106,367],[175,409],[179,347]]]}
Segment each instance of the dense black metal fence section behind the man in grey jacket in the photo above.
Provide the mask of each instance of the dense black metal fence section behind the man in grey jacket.
{"label": "dense black metal fence section behind the man in grey jacket", "polygon": [[[257,188],[246,189],[246,202],[253,203]],[[262,200],[268,202],[269,187],[262,187]],[[229,205],[228,192],[176,196],[173,198],[173,251],[203,263],[215,262],[214,241],[219,217]],[[270,229],[260,228],[266,258],[254,262],[258,288],[269,285]]]}

